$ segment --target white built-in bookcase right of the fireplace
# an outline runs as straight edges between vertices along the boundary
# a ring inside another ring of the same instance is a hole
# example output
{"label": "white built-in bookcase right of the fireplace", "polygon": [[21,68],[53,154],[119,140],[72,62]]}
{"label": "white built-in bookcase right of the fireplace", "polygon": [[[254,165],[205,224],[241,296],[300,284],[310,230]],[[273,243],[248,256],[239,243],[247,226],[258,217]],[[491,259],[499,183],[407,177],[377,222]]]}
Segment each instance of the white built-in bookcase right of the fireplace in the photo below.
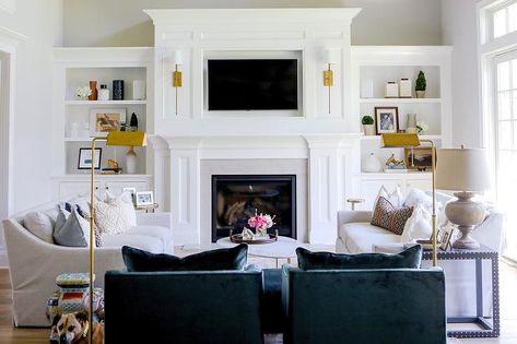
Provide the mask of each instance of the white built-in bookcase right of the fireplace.
{"label": "white built-in bookcase right of the fireplace", "polygon": [[[352,47],[352,98],[353,111],[357,115],[357,131],[362,132],[361,118],[375,118],[375,107],[397,107],[399,129],[404,130],[408,114],[416,114],[416,119],[425,121],[428,130],[422,139],[433,140],[437,146],[451,144],[450,105],[450,47]],[[414,91],[420,71],[425,73],[427,88],[425,98],[416,98]],[[411,98],[385,98],[387,81],[412,81]],[[362,94],[362,83],[373,85],[368,97]],[[403,158],[403,149],[383,149],[380,137],[360,137],[360,157],[363,162],[371,153],[384,163],[391,154]],[[388,173],[364,173],[363,164],[356,164],[354,194],[366,199],[363,209],[372,209],[373,200],[380,186],[431,188],[431,174],[407,173],[399,176]]]}

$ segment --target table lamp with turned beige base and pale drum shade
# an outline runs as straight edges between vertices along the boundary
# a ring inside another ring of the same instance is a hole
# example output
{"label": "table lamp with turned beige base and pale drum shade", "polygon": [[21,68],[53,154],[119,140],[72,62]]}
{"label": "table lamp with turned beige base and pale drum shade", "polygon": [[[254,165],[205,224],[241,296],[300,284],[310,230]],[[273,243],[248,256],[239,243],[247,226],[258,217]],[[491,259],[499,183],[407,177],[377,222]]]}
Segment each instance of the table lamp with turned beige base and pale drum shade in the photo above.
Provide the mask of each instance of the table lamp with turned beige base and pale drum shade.
{"label": "table lamp with turned beige base and pale drum shade", "polygon": [[475,249],[480,245],[470,234],[485,216],[484,206],[472,200],[475,192],[490,189],[491,178],[486,153],[481,149],[440,149],[436,166],[436,189],[458,191],[456,201],[447,203],[447,218],[461,232],[453,245],[459,249]]}

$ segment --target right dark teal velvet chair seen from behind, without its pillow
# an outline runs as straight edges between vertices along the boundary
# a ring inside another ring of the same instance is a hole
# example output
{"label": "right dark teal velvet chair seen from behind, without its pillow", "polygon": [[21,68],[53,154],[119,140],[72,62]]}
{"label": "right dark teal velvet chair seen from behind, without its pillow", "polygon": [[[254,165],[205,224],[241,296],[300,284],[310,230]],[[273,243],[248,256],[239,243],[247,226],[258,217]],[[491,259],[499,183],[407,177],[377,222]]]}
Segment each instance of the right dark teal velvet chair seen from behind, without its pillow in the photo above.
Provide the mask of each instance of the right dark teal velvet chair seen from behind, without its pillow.
{"label": "right dark teal velvet chair seen from behind, without its pillow", "polygon": [[445,276],[431,270],[284,266],[284,343],[444,344]]}

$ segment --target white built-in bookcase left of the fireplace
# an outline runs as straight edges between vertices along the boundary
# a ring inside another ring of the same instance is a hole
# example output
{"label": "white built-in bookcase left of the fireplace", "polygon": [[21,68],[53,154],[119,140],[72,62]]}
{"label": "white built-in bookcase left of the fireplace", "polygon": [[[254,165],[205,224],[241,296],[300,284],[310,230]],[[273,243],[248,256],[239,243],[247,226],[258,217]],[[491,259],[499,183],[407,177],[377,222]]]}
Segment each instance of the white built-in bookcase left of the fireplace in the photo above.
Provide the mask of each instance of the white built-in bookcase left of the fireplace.
{"label": "white built-in bookcase left of the fireplace", "polygon": [[[131,115],[138,118],[138,129],[153,132],[153,49],[152,48],[56,48],[55,49],[55,99],[54,99],[54,180],[59,194],[67,193],[63,186],[72,182],[70,191],[83,190],[89,170],[78,169],[79,150],[90,147],[92,132],[92,112],[99,110],[124,110],[126,122]],[[77,96],[77,88],[97,81],[97,90],[106,84],[110,91],[109,100],[84,100]],[[113,100],[113,81],[124,80],[124,99]],[[145,82],[145,98],[133,99],[132,83]],[[75,128],[75,129],[74,129]],[[122,167],[122,174],[98,176],[99,180],[128,187],[138,185],[138,189],[150,189],[152,181],[151,150],[136,147],[138,154],[137,173],[126,173],[125,154],[127,147],[108,147],[103,141],[97,143],[102,151],[102,167],[108,159],[115,159]],[[84,179],[84,180],[83,180]],[[107,187],[106,187],[107,188]]]}

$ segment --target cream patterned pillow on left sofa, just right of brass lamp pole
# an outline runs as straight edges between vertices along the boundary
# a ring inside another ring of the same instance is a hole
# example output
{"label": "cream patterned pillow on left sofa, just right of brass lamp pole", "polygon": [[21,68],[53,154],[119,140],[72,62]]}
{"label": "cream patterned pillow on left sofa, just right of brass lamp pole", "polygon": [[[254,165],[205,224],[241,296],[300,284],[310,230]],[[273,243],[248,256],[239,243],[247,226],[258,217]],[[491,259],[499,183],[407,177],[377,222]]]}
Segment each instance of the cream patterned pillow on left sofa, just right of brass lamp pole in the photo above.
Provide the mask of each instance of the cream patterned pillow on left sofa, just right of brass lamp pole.
{"label": "cream patterned pillow on left sofa, just right of brass lamp pole", "polygon": [[101,234],[114,235],[129,230],[129,223],[122,202],[118,199],[109,203],[95,202],[95,224]]}

